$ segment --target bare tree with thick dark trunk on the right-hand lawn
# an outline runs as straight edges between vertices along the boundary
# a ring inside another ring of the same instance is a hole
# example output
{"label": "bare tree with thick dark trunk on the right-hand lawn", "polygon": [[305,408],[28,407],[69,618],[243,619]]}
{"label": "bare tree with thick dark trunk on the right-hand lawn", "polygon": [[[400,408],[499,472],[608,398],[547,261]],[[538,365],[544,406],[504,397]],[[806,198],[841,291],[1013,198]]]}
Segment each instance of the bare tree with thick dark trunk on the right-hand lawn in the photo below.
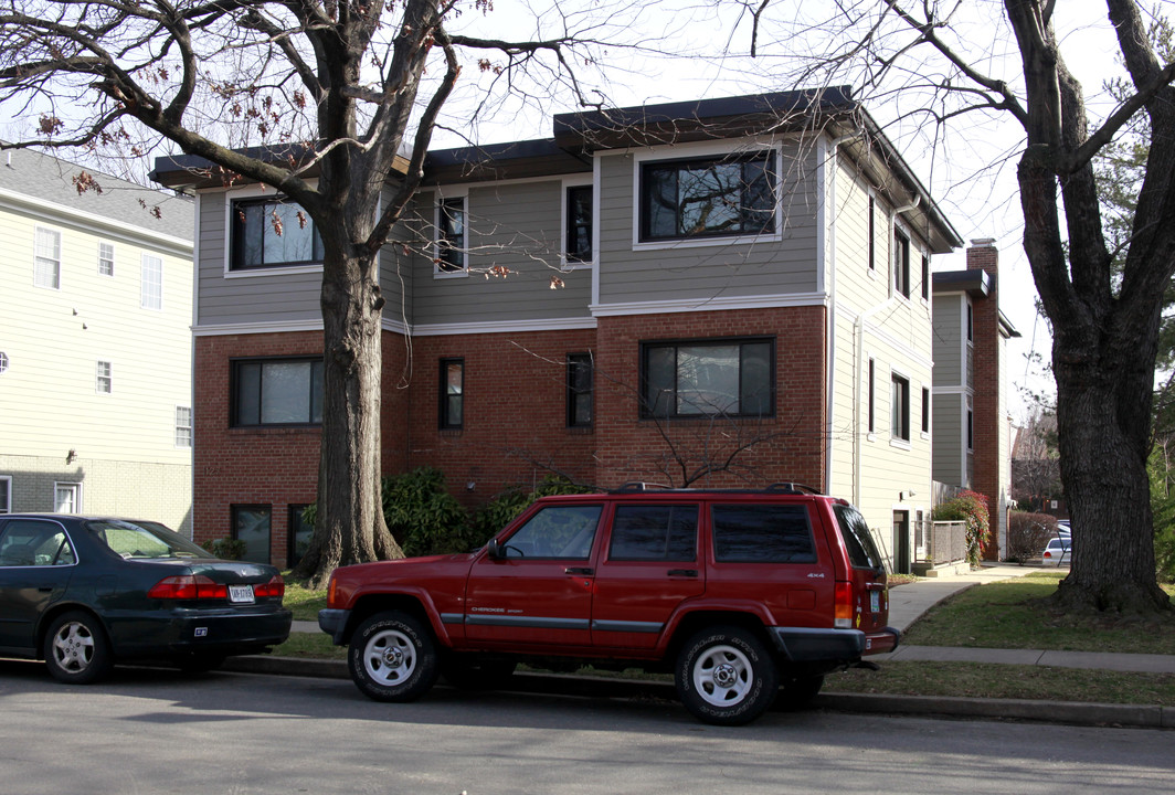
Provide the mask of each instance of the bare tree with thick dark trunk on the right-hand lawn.
{"label": "bare tree with thick dark trunk on the right-hand lawn", "polygon": [[[837,2],[815,22],[790,4],[740,5],[760,58],[778,48],[799,61],[798,81],[887,96],[921,121],[928,141],[976,114],[1022,130],[1023,245],[1053,325],[1061,477],[1076,535],[1056,598],[1070,608],[1169,611],[1155,581],[1146,464],[1163,295],[1175,274],[1175,63],[1156,55],[1139,5],[1106,0],[1129,90],[1097,123],[1056,29],[1055,16],[1076,9],[1055,0],[1005,0],[1002,18],[986,25],[961,19],[969,4]],[[1008,31],[1019,70],[996,52]],[[1150,148],[1116,274],[1093,159],[1133,119]]]}

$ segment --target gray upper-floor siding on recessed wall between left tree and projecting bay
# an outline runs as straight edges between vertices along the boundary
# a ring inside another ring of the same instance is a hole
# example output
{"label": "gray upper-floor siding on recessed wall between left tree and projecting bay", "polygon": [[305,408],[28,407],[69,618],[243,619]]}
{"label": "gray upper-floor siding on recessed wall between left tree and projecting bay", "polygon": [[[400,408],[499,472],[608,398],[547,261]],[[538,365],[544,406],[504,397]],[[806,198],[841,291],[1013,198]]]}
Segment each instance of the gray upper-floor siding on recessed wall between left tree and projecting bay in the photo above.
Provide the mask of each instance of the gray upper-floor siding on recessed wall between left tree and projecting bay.
{"label": "gray upper-floor siding on recessed wall between left tree and projecting bay", "polygon": [[[443,190],[443,189],[442,189]],[[418,196],[418,216],[431,252],[435,191]],[[470,187],[465,203],[469,276],[441,276],[432,260],[412,268],[414,323],[508,323],[590,318],[591,269],[563,270],[560,180]],[[505,276],[486,275],[495,267]],[[564,287],[552,289],[551,278]]]}

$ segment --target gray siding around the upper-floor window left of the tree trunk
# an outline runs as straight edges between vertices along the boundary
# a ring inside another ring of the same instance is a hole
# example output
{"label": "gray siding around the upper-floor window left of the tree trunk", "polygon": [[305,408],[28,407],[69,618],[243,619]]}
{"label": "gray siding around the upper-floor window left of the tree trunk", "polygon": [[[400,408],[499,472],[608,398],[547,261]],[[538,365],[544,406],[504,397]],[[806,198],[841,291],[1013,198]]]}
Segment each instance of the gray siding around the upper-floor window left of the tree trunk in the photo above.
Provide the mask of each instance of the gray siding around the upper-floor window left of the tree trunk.
{"label": "gray siding around the upper-floor window left of the tree trunk", "polygon": [[320,322],[321,271],[283,272],[275,268],[263,274],[226,277],[229,230],[224,203],[230,196],[230,193],[206,193],[200,197],[196,324]]}

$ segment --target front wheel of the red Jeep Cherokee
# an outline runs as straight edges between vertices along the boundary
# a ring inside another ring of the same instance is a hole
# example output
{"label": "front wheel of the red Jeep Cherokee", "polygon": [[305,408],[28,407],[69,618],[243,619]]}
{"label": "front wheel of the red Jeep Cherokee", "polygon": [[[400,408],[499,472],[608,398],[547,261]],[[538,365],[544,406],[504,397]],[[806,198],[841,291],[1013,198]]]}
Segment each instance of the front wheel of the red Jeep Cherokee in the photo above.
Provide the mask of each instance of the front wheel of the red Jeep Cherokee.
{"label": "front wheel of the red Jeep Cherokee", "polygon": [[437,680],[431,633],[407,613],[377,613],[351,635],[347,651],[351,680],[375,701],[415,701]]}

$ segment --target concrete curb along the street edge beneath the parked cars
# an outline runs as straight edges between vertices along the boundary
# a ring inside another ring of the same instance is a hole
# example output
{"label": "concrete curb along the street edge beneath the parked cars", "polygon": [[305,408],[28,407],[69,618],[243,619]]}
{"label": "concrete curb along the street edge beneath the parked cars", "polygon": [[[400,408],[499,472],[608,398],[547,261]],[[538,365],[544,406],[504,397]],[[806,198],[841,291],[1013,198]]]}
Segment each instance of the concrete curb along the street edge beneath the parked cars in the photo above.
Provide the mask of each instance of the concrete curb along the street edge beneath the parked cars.
{"label": "concrete curb along the street edge beneath the parked cars", "polygon": [[[275,676],[350,679],[342,660],[290,656],[229,658],[222,671]],[[677,701],[667,682],[578,676],[573,674],[515,674],[511,690],[610,699],[664,699]],[[1081,701],[1034,701],[1027,699],[974,699],[961,696],[880,695],[870,693],[821,693],[814,709],[887,715],[925,715],[976,720],[1065,723],[1069,726],[1121,726],[1175,729],[1175,707],[1159,705],[1087,703]]]}

